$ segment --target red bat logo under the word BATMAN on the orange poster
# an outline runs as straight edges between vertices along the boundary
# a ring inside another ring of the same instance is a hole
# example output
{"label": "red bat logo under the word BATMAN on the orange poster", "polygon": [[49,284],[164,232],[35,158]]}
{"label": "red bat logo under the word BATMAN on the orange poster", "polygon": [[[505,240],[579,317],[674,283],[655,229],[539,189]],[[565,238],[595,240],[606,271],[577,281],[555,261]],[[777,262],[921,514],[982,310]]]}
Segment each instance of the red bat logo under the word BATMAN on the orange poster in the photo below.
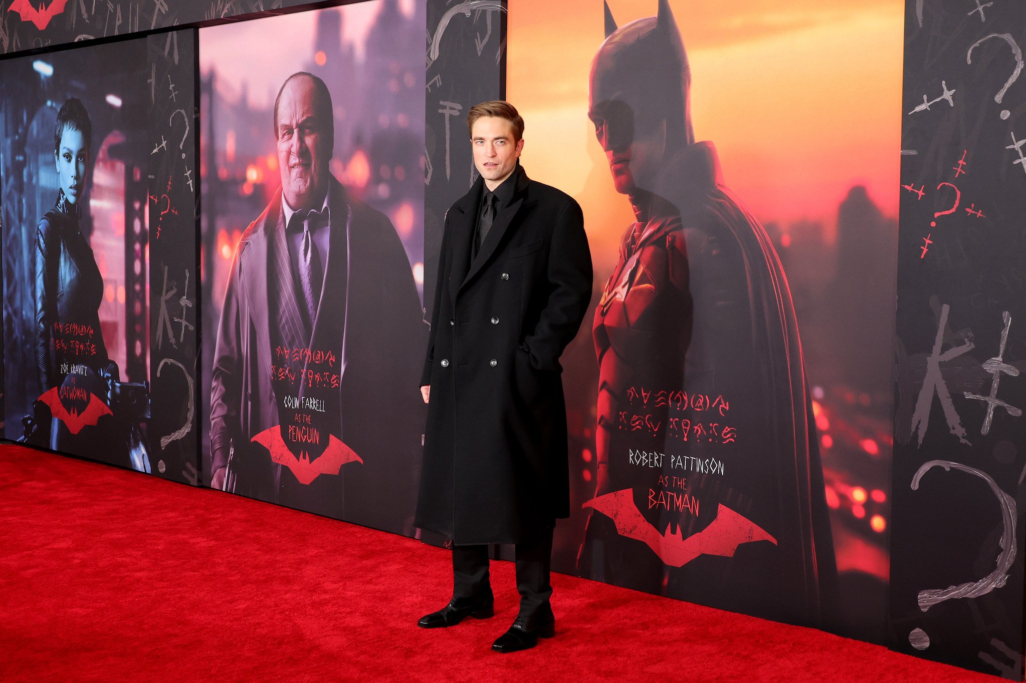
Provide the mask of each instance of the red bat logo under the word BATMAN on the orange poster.
{"label": "red bat logo under the word BATMAN on the orange poster", "polygon": [[671,567],[682,567],[700,555],[734,557],[741,544],[768,540],[777,545],[776,538],[722,504],[709,526],[686,538],[681,537],[679,528],[676,533],[670,533],[669,524],[666,533],[657,531],[652,522],[641,516],[629,488],[599,495],[582,507],[594,508],[611,519],[620,535],[644,541]]}

